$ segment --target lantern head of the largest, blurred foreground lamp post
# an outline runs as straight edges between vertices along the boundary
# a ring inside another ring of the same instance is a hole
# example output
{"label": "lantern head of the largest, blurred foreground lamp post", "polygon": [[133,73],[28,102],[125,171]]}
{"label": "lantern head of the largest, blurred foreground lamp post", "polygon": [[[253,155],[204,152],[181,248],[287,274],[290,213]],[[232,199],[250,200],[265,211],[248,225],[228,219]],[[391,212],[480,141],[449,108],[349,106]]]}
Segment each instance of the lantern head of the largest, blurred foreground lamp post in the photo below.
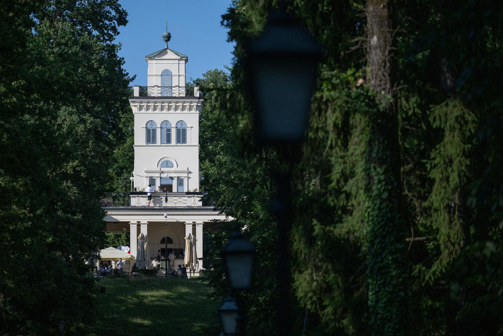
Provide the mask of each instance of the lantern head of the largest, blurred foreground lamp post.
{"label": "lantern head of the largest, blurred foreground lamp post", "polygon": [[321,47],[295,17],[282,11],[269,15],[262,35],[246,48],[258,140],[302,142],[321,56]]}

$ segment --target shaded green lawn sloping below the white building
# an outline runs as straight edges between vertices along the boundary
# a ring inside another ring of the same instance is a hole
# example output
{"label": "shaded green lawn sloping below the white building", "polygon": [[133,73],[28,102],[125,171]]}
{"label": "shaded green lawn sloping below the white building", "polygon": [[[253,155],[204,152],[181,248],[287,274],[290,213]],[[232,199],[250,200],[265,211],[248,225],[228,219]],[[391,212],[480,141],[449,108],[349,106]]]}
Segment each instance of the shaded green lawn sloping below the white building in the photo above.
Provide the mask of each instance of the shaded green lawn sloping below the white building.
{"label": "shaded green lawn sloping below the white building", "polygon": [[211,334],[218,302],[193,279],[105,278],[98,298],[98,322],[91,335]]}

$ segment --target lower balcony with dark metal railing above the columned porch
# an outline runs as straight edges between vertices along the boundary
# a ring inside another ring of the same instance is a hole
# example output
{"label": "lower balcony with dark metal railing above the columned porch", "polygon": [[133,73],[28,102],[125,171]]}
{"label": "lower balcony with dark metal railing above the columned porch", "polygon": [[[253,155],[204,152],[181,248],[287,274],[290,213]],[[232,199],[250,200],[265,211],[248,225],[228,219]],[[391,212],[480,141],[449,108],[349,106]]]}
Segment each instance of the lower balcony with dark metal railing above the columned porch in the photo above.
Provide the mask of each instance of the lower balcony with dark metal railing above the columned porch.
{"label": "lower balcony with dark metal railing above the columned porch", "polygon": [[[203,199],[202,192],[152,192],[150,207],[213,207],[214,203]],[[107,207],[146,207],[147,193],[106,192],[100,205]]]}

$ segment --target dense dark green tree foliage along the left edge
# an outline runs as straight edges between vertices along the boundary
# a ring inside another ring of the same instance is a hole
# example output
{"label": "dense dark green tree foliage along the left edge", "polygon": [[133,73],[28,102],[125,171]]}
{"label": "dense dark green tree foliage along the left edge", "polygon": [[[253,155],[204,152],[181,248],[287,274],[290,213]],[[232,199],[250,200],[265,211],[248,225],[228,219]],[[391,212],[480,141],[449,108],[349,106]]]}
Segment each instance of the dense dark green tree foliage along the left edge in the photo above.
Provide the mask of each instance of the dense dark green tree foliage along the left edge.
{"label": "dense dark green tree foliage along the left edge", "polygon": [[63,318],[85,333],[96,287],[83,260],[105,229],[98,200],[128,106],[113,43],[126,13],[115,0],[3,5],[0,324],[52,334]]}

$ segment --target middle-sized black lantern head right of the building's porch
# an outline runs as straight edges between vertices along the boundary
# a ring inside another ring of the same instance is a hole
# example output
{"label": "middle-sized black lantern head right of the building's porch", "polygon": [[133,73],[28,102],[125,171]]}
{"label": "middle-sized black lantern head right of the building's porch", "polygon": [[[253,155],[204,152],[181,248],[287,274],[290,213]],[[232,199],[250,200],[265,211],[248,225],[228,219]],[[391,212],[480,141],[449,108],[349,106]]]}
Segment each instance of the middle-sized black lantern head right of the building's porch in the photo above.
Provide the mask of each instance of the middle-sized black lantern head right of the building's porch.
{"label": "middle-sized black lantern head right of the building's porch", "polygon": [[222,250],[225,272],[233,289],[251,287],[255,247],[240,233],[233,233]]}

